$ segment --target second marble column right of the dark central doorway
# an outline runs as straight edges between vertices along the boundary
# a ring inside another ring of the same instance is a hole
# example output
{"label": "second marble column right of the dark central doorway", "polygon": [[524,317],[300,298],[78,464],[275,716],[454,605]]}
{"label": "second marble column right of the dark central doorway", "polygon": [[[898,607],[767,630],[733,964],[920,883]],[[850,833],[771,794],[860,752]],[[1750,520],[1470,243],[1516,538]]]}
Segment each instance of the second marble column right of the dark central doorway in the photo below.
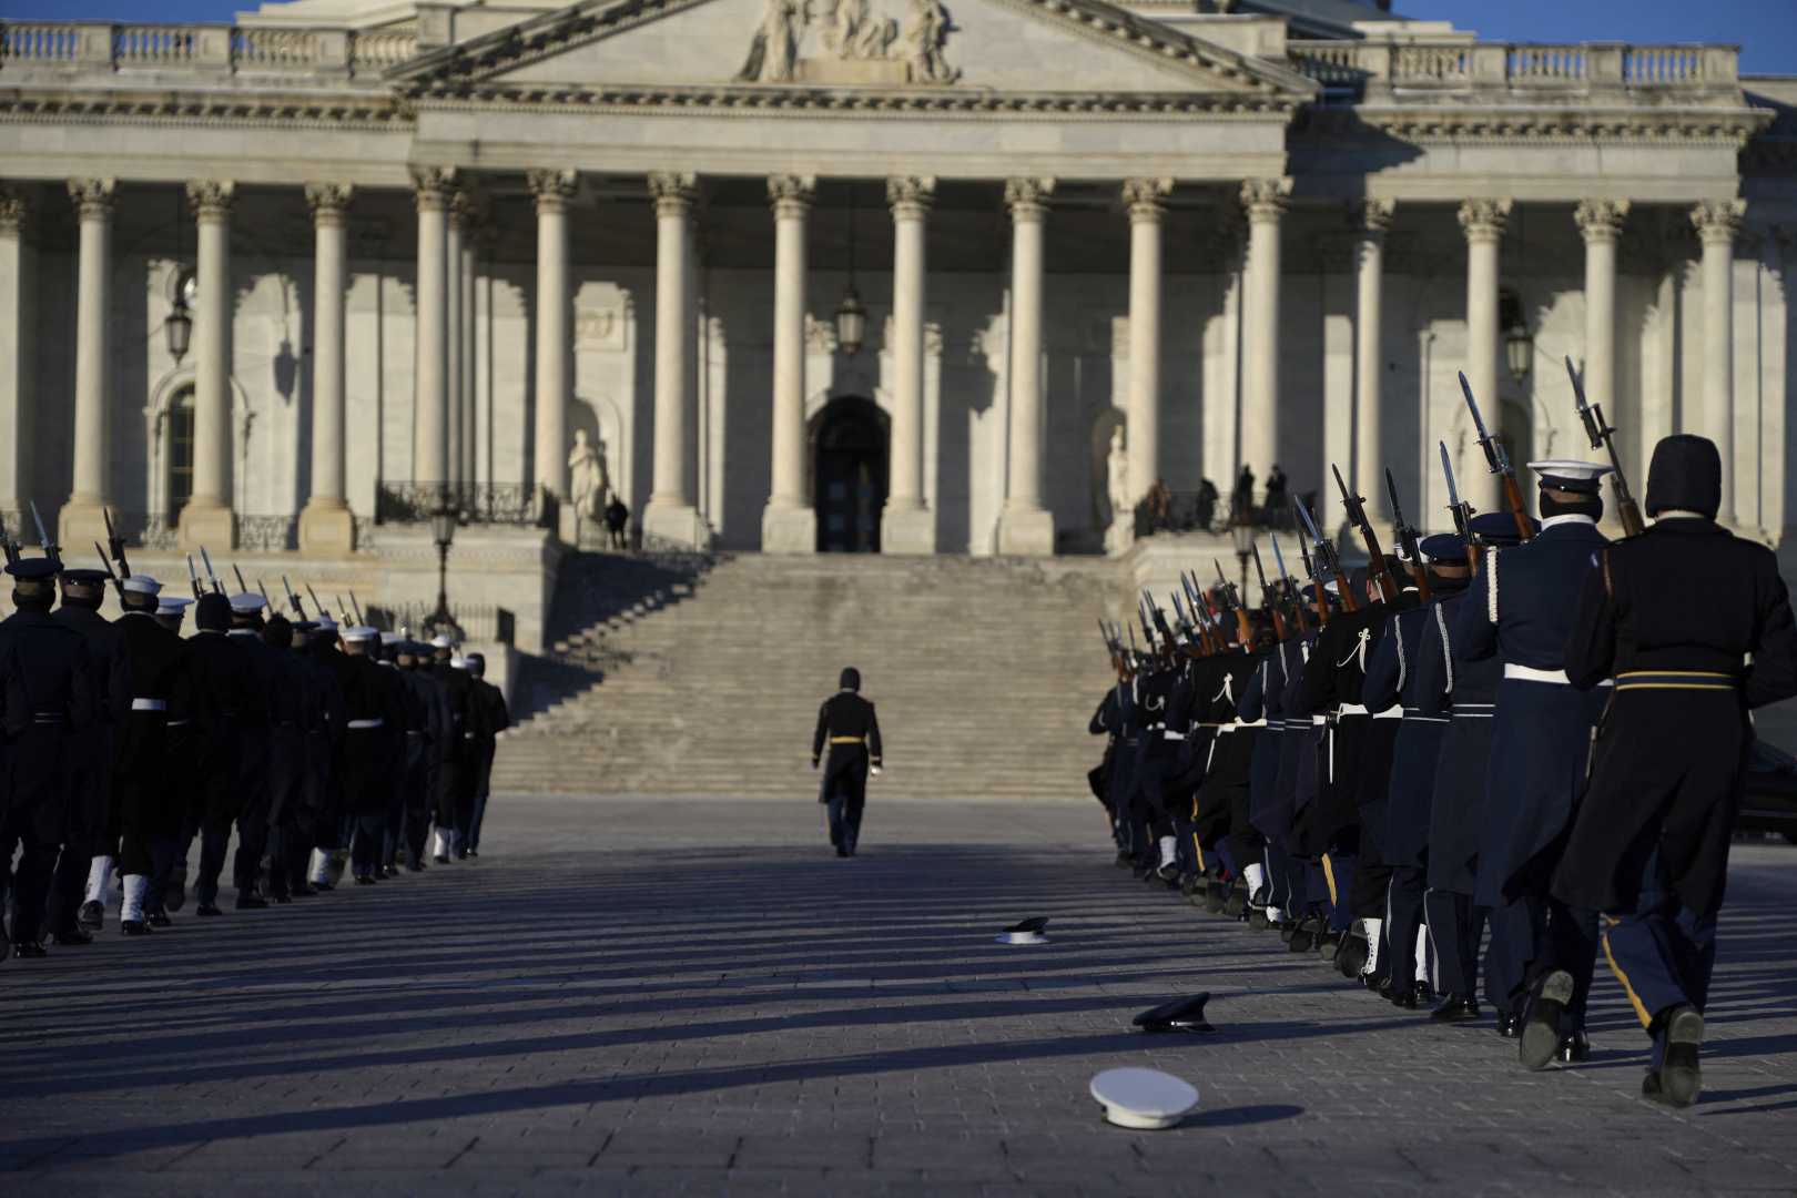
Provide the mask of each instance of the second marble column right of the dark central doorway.
{"label": "second marble column right of the dark central doorway", "polygon": [[1042,507],[1042,225],[1055,180],[1005,183],[1012,216],[1010,474],[999,512],[999,553],[1055,551],[1055,515]]}

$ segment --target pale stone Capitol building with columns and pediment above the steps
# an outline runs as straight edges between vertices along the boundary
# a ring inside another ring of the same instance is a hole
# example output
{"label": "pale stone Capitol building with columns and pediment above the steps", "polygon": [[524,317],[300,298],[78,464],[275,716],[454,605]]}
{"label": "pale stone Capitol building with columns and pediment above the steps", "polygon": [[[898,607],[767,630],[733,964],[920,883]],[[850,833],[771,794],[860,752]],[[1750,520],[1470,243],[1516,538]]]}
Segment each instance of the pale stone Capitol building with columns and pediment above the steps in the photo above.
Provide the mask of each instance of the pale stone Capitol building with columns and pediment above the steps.
{"label": "pale stone Capitol building with columns and pediment above the steps", "polygon": [[1587,456],[1571,356],[1637,487],[1700,431],[1781,542],[1797,77],[1736,59],[1360,0],[5,22],[0,510],[397,607],[449,501],[528,643],[609,494],[652,546],[1120,553],[1157,480],[1339,462],[1441,524],[1438,440],[1495,505],[1456,372]]}

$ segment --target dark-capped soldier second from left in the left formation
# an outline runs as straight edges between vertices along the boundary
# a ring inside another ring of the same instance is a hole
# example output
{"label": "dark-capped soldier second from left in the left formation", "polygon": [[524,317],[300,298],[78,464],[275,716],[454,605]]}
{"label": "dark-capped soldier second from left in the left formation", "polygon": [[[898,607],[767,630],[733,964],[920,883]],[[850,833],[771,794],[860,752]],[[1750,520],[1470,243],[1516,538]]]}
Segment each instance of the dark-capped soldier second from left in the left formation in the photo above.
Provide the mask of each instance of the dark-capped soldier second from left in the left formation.
{"label": "dark-capped soldier second from left in the left formation", "polygon": [[[84,945],[93,939],[77,921],[83,893],[90,882],[97,882],[93,889],[106,894],[106,880],[111,876],[106,844],[117,839],[111,801],[113,765],[119,729],[131,711],[131,665],[117,625],[101,614],[106,580],[104,569],[65,569],[63,605],[50,616],[88,643],[88,683],[93,693],[93,724],[88,729],[84,753],[70,758],[77,797],[70,808],[68,839],[56,859],[56,876],[45,909],[50,941],[58,945]],[[90,876],[95,873],[95,864],[101,876]]]}

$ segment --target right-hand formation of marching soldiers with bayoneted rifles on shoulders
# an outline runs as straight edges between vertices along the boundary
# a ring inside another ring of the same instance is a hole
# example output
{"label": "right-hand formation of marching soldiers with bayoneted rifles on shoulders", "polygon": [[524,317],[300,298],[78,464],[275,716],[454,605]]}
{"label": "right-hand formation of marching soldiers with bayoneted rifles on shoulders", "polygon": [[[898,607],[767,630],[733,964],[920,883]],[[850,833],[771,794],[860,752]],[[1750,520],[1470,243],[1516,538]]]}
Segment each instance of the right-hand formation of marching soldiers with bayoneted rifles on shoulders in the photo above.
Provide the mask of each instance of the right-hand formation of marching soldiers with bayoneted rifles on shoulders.
{"label": "right-hand formation of marching soldiers with bayoneted rifles on shoulders", "polygon": [[1601,956],[1651,1036],[1642,1096],[1687,1106],[1748,711],[1797,695],[1797,636],[1774,553],[1716,523],[1716,445],[1659,442],[1646,524],[1572,383],[1612,463],[1531,462],[1540,521],[1481,422],[1508,510],[1474,514],[1443,445],[1454,532],[1409,526],[1387,471],[1387,557],[1337,472],[1368,566],[1297,503],[1303,580],[1274,537],[1254,607],[1143,593],[1141,645],[1103,627],[1091,785],[1118,866],[1432,1022],[1488,1006],[1527,1069],[1589,1058]]}

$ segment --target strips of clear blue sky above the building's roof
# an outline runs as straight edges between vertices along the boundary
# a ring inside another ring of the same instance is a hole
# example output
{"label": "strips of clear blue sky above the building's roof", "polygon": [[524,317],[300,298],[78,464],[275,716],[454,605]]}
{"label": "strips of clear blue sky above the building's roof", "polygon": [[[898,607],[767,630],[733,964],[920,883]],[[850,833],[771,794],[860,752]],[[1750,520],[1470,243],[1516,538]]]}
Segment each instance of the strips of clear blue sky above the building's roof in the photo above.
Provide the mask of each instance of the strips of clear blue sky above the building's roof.
{"label": "strips of clear blue sky above the building's roof", "polygon": [[[0,0],[0,16],[228,22],[257,0]],[[1396,0],[1493,41],[1727,41],[1743,74],[1797,75],[1797,0]]]}

